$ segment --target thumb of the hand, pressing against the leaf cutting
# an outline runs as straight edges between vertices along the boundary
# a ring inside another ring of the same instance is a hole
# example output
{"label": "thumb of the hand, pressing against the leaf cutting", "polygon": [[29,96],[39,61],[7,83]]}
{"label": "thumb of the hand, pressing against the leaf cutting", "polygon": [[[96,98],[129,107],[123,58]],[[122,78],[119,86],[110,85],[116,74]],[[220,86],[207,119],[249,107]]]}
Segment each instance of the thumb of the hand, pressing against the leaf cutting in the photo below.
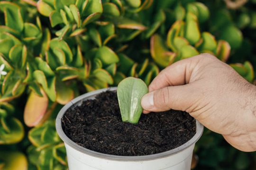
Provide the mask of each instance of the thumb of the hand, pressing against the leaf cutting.
{"label": "thumb of the hand, pressing against the leaf cutting", "polygon": [[168,86],[145,94],[141,99],[144,113],[149,111],[190,110],[201,98],[192,84]]}

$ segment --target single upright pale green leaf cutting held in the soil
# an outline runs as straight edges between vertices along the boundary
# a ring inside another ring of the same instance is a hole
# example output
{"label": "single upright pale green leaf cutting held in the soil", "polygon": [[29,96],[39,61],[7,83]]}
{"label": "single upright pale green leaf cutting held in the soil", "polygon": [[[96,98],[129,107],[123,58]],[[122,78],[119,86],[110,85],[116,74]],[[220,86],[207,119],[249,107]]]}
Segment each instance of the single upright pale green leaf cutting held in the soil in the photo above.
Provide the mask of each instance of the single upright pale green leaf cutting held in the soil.
{"label": "single upright pale green leaf cutting held in the soil", "polygon": [[136,124],[142,113],[141,98],[148,92],[143,80],[134,77],[123,79],[117,88],[122,121]]}

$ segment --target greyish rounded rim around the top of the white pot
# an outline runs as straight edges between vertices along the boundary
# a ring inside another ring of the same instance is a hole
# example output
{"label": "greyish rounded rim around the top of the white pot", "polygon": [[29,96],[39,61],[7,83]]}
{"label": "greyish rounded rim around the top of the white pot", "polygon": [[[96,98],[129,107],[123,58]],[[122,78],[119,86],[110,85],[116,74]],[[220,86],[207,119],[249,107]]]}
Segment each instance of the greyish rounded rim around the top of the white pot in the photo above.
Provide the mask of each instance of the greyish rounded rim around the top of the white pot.
{"label": "greyish rounded rim around the top of the white pot", "polygon": [[76,97],[75,99],[73,99],[72,101],[70,101],[66,105],[64,105],[64,107],[59,111],[57,118],[56,118],[56,130],[57,130],[57,133],[60,136],[60,138],[64,141],[64,144],[68,144],[70,147],[77,150],[78,152],[88,154],[88,155],[98,157],[98,158],[114,160],[114,161],[148,161],[148,160],[164,158],[164,157],[182,152],[183,150],[185,150],[192,144],[196,143],[199,140],[199,138],[201,137],[201,135],[203,133],[203,126],[201,125],[201,123],[199,123],[199,121],[196,120],[196,134],[188,142],[186,142],[185,144],[182,144],[179,147],[176,147],[169,151],[165,151],[163,153],[156,153],[156,154],[145,155],[145,156],[119,156],[119,155],[110,155],[110,154],[106,154],[106,153],[99,153],[99,152],[91,151],[89,149],[86,149],[86,148],[74,143],[68,136],[66,136],[66,134],[64,133],[64,131],[62,129],[62,125],[61,125],[61,118],[63,117],[66,110],[68,110],[70,107],[72,107],[74,105],[76,106],[76,105],[81,104],[85,100],[92,99],[93,97],[95,97],[96,95],[98,95],[101,92],[116,91],[116,90],[117,90],[117,87],[109,87],[109,88],[104,88],[104,89],[96,90],[93,92],[85,93],[85,94],[82,94],[82,95]]}

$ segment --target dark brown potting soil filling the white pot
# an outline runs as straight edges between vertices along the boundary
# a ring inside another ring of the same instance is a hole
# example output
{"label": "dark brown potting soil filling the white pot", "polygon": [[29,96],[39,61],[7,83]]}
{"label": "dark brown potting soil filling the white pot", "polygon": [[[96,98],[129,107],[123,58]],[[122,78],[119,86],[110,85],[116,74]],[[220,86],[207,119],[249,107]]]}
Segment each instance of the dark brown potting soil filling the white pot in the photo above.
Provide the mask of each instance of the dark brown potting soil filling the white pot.
{"label": "dark brown potting soil filling the white pot", "polygon": [[107,91],[68,109],[62,128],[72,141],[92,151],[142,156],[186,143],[196,133],[196,122],[178,110],[142,114],[136,125],[122,122],[117,93]]}

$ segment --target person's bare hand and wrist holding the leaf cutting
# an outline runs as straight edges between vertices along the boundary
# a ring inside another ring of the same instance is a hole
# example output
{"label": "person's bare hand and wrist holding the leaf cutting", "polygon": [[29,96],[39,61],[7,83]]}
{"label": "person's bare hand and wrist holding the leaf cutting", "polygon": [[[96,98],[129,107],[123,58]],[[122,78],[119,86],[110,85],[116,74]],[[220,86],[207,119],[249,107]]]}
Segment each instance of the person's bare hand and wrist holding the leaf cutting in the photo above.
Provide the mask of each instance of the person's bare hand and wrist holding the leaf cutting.
{"label": "person's bare hand and wrist holding the leaf cutting", "polygon": [[143,113],[183,110],[235,148],[256,151],[256,86],[204,53],[165,68],[141,100]]}

